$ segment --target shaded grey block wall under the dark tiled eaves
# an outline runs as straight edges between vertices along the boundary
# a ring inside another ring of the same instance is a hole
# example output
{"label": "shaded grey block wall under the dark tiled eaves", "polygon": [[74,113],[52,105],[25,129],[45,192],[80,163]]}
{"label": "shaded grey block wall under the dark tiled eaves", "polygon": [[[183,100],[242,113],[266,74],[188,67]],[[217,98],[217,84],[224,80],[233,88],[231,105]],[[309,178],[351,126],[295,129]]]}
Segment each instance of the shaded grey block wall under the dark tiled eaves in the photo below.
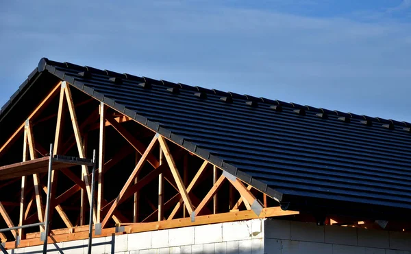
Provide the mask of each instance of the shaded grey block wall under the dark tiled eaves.
{"label": "shaded grey block wall under the dark tiled eaves", "polygon": [[411,254],[411,233],[265,220],[267,254]]}

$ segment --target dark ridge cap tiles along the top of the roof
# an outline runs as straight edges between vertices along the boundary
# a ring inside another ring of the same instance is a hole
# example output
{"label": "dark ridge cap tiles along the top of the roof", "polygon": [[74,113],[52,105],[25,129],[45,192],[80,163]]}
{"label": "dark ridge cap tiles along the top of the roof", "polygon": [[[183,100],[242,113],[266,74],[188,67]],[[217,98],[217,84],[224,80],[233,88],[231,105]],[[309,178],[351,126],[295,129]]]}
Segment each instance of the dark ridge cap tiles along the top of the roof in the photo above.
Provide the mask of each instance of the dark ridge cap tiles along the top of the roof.
{"label": "dark ridge cap tiles along the top of the roof", "polygon": [[[71,62],[56,62],[53,60],[49,60],[47,58],[41,58],[40,62],[38,63],[38,71],[42,72],[46,69],[47,65],[54,65],[56,67],[63,67],[63,68],[69,68],[69,69],[75,69],[76,71],[84,72],[88,71],[90,74],[95,73],[98,75],[105,75],[110,77],[110,80],[112,80],[114,83],[120,84],[121,80],[133,80],[133,81],[138,81],[138,82],[144,82],[144,83],[149,83],[148,86],[145,86],[142,84],[143,87],[147,88],[151,84],[157,84],[157,85],[162,85],[162,86],[169,86],[169,88],[177,88],[177,89],[182,89],[182,90],[188,90],[188,91],[193,91],[195,92],[195,95],[205,99],[207,95],[219,95],[223,96],[221,97],[221,100],[224,102],[229,102],[232,103],[233,99],[239,99],[239,100],[245,100],[245,102],[249,106],[253,107],[258,107],[259,103],[267,104],[271,108],[275,109],[275,111],[279,111],[277,107],[275,106],[280,106],[280,107],[286,107],[286,108],[291,108],[292,110],[295,111],[295,113],[299,115],[306,115],[306,111],[314,113],[316,116],[321,117],[321,119],[327,119],[329,115],[336,116],[338,119],[343,120],[343,122],[350,122],[349,119],[357,119],[360,121],[362,124],[366,124],[366,126],[372,126],[372,123],[379,123],[382,124],[383,127],[388,128],[390,130],[395,129],[394,126],[399,126],[402,127],[409,132],[411,132],[411,123],[408,122],[399,122],[393,119],[384,119],[382,117],[369,117],[366,115],[357,115],[353,113],[344,113],[341,111],[332,111],[326,108],[316,108],[314,106],[308,106],[308,105],[301,105],[301,104],[296,104],[294,102],[282,102],[280,100],[272,100],[266,97],[255,97],[252,95],[240,95],[238,93],[233,93],[233,92],[225,92],[225,91],[219,91],[217,89],[207,89],[205,87],[201,86],[192,86],[188,84],[183,84],[183,83],[175,83],[175,82],[170,82],[167,80],[155,80],[153,78],[147,78],[147,77],[139,77],[139,76],[134,76],[132,74],[128,73],[117,73],[115,71],[109,71],[109,70],[101,70],[101,69],[96,69],[93,67],[88,67],[88,66],[79,66],[75,65]],[[119,80],[121,79],[121,80]],[[171,91],[171,90],[169,90]],[[173,90],[173,93],[178,93],[177,90]],[[227,100],[227,97],[231,97],[231,99]],[[274,107],[273,107],[274,106]]]}

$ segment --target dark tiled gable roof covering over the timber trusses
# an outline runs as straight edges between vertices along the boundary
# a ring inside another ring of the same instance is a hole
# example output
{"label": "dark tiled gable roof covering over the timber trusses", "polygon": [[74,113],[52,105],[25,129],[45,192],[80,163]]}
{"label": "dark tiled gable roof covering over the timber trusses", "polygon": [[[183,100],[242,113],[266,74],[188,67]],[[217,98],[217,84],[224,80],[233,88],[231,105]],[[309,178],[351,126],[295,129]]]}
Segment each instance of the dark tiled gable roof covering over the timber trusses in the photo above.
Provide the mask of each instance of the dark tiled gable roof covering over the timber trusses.
{"label": "dark tiled gable roof covering over the timber trusses", "polygon": [[[47,58],[31,76],[73,84],[269,194],[285,208],[312,205],[375,213],[393,207],[411,209],[409,123]],[[0,122],[30,82],[26,80],[1,108]]]}

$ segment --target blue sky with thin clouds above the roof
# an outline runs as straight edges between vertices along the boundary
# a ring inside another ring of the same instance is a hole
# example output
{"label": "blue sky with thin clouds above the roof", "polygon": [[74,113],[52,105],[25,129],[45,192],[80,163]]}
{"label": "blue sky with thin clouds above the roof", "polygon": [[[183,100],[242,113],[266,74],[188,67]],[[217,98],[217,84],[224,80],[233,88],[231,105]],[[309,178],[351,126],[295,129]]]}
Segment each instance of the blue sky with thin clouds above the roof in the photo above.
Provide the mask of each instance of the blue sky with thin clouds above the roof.
{"label": "blue sky with thin clouds above the roof", "polygon": [[1,1],[1,105],[43,56],[411,122],[411,0]]}

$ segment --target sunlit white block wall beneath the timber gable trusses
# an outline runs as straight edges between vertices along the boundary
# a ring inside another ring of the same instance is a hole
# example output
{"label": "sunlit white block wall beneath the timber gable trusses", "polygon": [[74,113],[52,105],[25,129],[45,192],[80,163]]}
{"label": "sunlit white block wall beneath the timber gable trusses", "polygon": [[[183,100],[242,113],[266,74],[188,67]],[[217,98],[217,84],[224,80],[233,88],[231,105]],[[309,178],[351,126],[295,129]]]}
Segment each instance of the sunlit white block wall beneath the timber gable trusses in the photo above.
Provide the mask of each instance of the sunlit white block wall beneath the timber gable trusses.
{"label": "sunlit white block wall beneath the timber gable trusses", "polygon": [[[264,220],[247,220],[219,224],[165,229],[142,233],[93,238],[92,253],[227,253],[263,254]],[[49,253],[87,253],[88,240],[49,244]],[[9,251],[9,253],[42,253],[42,246]]]}

